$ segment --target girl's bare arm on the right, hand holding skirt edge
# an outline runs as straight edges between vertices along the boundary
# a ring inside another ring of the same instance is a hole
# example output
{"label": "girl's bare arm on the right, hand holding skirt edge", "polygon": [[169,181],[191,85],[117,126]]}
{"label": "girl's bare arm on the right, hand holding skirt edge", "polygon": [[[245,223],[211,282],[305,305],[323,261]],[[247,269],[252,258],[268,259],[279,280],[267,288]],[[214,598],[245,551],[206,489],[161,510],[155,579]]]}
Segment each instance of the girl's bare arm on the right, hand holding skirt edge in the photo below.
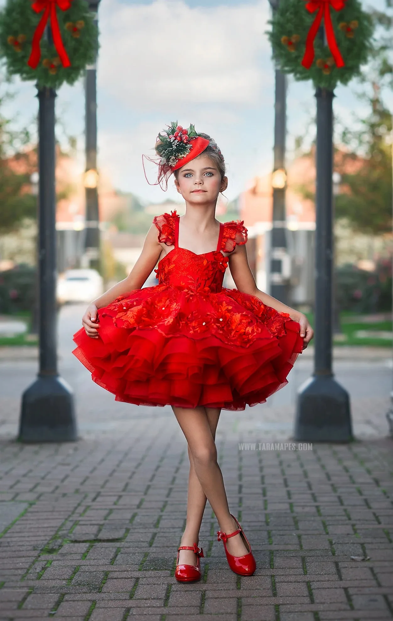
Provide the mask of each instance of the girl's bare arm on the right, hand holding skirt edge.
{"label": "girl's bare arm on the right, hand holding skirt edge", "polygon": [[279,300],[275,299],[275,297],[269,296],[267,293],[264,293],[257,288],[254,276],[252,275],[252,271],[248,265],[247,250],[245,245],[236,246],[234,252],[229,255],[229,269],[231,270],[236,288],[238,288],[239,291],[247,293],[250,296],[258,297],[261,302],[266,304],[266,306],[271,306],[277,312],[288,313],[291,319],[300,324],[300,336],[304,337],[303,349],[305,349],[314,334],[312,327],[308,323],[307,317],[305,317],[305,315],[301,312],[295,311],[295,309],[292,309],[290,306],[282,304],[282,302],[279,302]]}

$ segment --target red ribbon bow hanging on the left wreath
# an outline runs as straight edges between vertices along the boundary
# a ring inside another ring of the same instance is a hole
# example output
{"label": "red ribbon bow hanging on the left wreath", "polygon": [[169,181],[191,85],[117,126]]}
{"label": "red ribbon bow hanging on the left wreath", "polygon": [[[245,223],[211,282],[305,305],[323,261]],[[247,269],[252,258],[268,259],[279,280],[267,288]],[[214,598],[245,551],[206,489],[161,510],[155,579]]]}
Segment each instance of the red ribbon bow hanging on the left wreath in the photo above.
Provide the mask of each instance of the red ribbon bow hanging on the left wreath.
{"label": "red ribbon bow hanging on the left wreath", "polygon": [[40,13],[45,9],[44,15],[41,17],[39,25],[37,25],[37,28],[35,29],[32,40],[32,50],[29,60],[27,61],[27,65],[29,65],[32,69],[35,69],[40,61],[40,40],[42,38],[42,35],[44,34],[45,26],[47,25],[49,16],[50,26],[52,27],[53,44],[55,45],[60,60],[62,61],[62,65],[63,67],[69,67],[71,65],[70,59],[68,58],[67,52],[65,51],[65,47],[63,45],[60,28],[58,27],[56,13],[57,6],[60,11],[68,11],[71,6],[71,0],[36,0],[34,4],[32,4],[32,9],[36,13]]}

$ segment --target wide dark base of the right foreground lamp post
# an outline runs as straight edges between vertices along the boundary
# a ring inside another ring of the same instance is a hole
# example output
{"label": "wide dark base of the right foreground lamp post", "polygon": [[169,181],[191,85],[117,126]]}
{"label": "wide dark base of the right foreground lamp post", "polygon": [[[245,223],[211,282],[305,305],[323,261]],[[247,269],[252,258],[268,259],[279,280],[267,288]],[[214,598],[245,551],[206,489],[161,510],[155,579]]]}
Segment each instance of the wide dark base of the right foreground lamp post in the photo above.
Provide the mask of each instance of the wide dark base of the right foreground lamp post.
{"label": "wide dark base of the right foreground lamp post", "polygon": [[333,376],[312,376],[298,390],[295,440],[351,442],[348,392]]}

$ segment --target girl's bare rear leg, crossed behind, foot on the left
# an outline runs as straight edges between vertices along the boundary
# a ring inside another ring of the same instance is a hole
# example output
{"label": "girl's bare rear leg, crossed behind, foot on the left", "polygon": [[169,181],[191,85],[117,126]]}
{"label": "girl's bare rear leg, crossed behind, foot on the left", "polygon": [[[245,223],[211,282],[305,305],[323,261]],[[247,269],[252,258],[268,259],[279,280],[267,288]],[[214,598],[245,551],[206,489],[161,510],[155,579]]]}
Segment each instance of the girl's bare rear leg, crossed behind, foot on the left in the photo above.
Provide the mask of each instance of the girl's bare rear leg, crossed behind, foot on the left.
{"label": "girl's bare rear leg, crossed behind, foot on the left", "polygon": [[[220,418],[221,409],[206,407],[205,412],[208,419],[213,440],[216,437],[216,428]],[[203,512],[206,506],[206,496],[195,473],[195,466],[192,458],[190,446],[187,445],[188,459],[190,460],[190,474],[188,476],[187,494],[187,523],[180,545],[193,545],[199,542],[199,531],[201,527]],[[180,550],[179,563],[194,565],[196,563],[195,554],[189,550]]]}

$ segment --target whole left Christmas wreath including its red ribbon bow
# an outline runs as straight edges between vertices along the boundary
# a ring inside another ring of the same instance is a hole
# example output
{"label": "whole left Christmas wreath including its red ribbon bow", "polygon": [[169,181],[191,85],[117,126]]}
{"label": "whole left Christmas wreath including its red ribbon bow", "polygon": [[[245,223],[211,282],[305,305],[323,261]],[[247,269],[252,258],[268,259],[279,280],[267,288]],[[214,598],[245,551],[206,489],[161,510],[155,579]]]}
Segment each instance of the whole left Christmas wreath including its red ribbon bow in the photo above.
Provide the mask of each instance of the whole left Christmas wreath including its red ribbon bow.
{"label": "whole left Christmas wreath including its red ribbon bow", "polygon": [[7,0],[0,11],[0,55],[7,73],[34,80],[38,88],[73,84],[94,62],[97,47],[85,0]]}

